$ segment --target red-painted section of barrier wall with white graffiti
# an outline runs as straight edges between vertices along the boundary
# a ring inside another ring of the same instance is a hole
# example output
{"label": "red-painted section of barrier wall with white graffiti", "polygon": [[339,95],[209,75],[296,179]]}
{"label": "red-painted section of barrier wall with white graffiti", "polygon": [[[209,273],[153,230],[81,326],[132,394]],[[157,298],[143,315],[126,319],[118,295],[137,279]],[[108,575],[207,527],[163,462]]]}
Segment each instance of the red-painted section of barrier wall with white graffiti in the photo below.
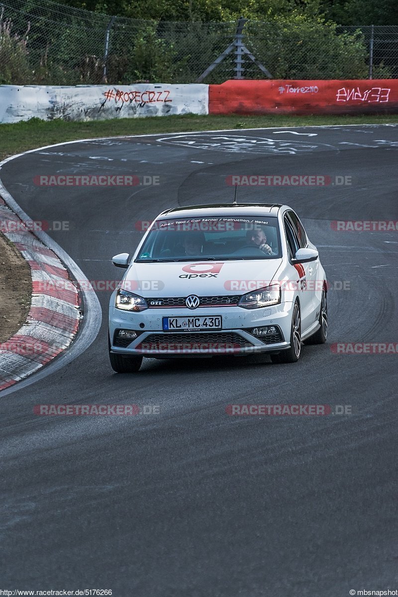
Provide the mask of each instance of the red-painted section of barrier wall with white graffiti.
{"label": "red-painted section of barrier wall with white graffiti", "polygon": [[398,113],[398,79],[226,81],[209,85],[209,114]]}

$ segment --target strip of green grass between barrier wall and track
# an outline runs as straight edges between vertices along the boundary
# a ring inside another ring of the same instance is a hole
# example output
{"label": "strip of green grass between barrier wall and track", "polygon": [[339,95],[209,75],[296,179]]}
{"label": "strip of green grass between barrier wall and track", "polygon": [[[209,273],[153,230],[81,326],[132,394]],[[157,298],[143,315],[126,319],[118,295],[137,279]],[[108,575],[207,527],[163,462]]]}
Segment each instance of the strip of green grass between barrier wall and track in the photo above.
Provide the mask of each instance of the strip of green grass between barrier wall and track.
{"label": "strip of green grass between barrier wall and track", "polygon": [[43,145],[145,133],[174,133],[232,128],[302,127],[326,124],[398,124],[398,115],[363,116],[155,116],[94,122],[41,121],[0,124],[0,160]]}

